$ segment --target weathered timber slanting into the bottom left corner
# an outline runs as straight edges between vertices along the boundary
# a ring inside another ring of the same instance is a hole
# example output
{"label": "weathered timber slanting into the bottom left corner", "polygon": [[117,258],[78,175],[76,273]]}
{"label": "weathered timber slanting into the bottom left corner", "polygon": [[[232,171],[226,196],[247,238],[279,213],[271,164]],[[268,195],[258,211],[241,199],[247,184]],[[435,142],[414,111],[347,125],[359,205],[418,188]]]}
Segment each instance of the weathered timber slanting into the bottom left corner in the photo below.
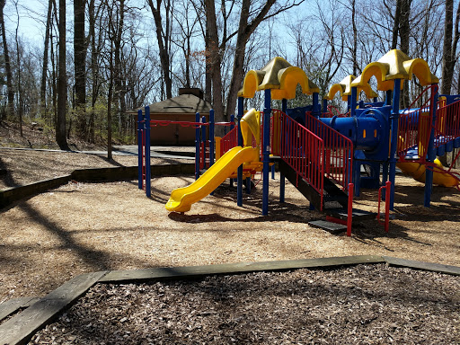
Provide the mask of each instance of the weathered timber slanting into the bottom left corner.
{"label": "weathered timber slanting into the bottom left corner", "polygon": [[76,276],[50,292],[47,296],[0,325],[0,344],[23,344],[49,323],[62,310],[70,306],[88,288],[91,288],[107,271]]}

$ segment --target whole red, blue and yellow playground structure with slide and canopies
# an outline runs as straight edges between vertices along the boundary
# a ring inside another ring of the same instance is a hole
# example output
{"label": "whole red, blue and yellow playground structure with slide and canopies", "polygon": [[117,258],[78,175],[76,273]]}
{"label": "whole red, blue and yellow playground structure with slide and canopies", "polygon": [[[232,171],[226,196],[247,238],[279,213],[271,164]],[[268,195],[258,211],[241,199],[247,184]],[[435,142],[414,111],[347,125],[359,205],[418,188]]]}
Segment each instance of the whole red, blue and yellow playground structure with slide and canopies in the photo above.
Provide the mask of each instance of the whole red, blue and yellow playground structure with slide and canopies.
{"label": "whole red, blue and yellow playground structure with slide and canopies", "polygon": [[[403,83],[413,75],[427,88],[409,109],[400,111]],[[377,93],[368,84],[372,76],[376,77],[377,90],[385,92],[385,102],[376,102]],[[302,93],[312,95],[313,104],[289,110],[288,99],[296,97],[297,85]],[[243,117],[243,99],[252,98],[257,91],[263,91],[265,96],[261,115],[250,111]],[[361,91],[374,102],[358,104]],[[332,116],[327,101],[337,92],[348,102],[348,111]],[[358,78],[349,75],[341,83],[332,85],[323,100],[322,110],[319,88],[305,72],[275,57],[261,70],[245,75],[238,96],[237,122],[240,126],[232,128],[225,137],[217,138],[216,146],[211,116],[208,124],[199,121],[199,114],[196,122],[189,123],[196,129],[197,181],[184,189],[174,190],[166,205],[168,210],[190,210],[193,202],[206,197],[227,177],[237,179],[237,204],[241,206],[243,178],[250,179],[261,171],[262,215],[267,215],[270,164],[275,160],[279,161],[280,201],[284,202],[288,178],[310,200],[311,206],[326,212],[334,222],[346,223],[348,234],[354,212],[352,197],[359,195],[361,186],[378,188],[379,193],[386,190],[383,199],[387,201],[387,230],[388,208],[394,208],[396,164],[403,172],[415,172],[414,177],[425,181],[426,207],[429,207],[433,182],[458,186],[456,173],[436,164],[435,158],[460,147],[460,97],[447,96],[438,101],[438,78],[431,74],[423,59],[411,59],[397,49],[391,50],[367,65]],[[271,109],[272,100],[281,100],[281,111]],[[412,108],[415,104],[420,105]],[[146,109],[145,115],[139,111],[138,123],[139,188],[143,188],[146,181],[149,195],[146,176],[149,176],[150,164],[146,162],[149,162],[150,147],[145,140],[149,137],[146,124],[153,124],[155,120],[149,119]],[[224,125],[233,127],[233,122]],[[209,139],[203,130],[207,126]],[[454,161],[457,158],[458,155]],[[362,176],[362,166],[369,169],[368,176]],[[208,170],[199,177],[202,168]]]}

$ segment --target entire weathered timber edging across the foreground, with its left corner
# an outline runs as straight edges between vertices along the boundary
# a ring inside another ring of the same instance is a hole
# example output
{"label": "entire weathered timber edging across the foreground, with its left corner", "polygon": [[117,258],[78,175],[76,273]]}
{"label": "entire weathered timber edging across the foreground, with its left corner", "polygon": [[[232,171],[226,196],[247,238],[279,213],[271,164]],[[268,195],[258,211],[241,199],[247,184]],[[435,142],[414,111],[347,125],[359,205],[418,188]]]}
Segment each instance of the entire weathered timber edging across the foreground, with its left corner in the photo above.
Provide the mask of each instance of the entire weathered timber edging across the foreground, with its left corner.
{"label": "entire weathered timber edging across the foreground, with its left corner", "polygon": [[0,315],[2,315],[3,318],[15,313],[24,306],[28,307],[0,325],[0,345],[26,343],[35,332],[40,331],[46,324],[51,323],[58,314],[74,304],[80,296],[83,296],[84,293],[96,283],[139,283],[147,280],[191,279],[209,275],[241,274],[256,271],[333,268],[363,263],[386,263],[390,266],[406,267],[415,270],[430,270],[438,273],[460,276],[460,267],[457,266],[379,255],[358,255],[292,261],[239,262],[144,270],[106,270],[76,276],[66,281],[66,283],[43,298],[15,298],[14,300],[6,301],[1,304]]}

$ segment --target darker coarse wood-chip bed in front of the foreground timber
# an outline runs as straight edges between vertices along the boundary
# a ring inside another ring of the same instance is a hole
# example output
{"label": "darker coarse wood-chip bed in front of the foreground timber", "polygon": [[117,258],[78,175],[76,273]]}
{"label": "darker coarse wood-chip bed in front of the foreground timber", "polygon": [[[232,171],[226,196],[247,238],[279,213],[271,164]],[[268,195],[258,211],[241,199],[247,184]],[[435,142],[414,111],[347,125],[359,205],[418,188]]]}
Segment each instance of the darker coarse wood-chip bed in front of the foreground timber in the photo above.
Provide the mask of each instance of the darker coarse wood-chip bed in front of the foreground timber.
{"label": "darker coarse wood-chip bed in front of the foreground timber", "polygon": [[96,285],[32,344],[458,344],[460,278],[358,265]]}

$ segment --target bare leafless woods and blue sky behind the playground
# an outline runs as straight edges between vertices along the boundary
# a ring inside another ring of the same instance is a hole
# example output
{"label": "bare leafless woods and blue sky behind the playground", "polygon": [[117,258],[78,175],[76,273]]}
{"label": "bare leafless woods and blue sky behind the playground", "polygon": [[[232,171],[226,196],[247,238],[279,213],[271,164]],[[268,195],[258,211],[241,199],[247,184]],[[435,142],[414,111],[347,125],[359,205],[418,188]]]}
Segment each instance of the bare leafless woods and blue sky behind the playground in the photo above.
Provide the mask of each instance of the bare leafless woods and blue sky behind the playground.
{"label": "bare leafless woods and blue sky behind the playground", "polygon": [[[277,56],[322,97],[401,49],[428,62],[440,93],[458,94],[459,22],[458,0],[0,0],[0,126],[22,135],[35,122],[62,149],[75,136],[111,155],[113,139],[135,141],[127,111],[181,87],[203,90],[228,120],[245,72]],[[402,105],[420,91],[410,83]],[[289,106],[305,102],[299,93]]]}

